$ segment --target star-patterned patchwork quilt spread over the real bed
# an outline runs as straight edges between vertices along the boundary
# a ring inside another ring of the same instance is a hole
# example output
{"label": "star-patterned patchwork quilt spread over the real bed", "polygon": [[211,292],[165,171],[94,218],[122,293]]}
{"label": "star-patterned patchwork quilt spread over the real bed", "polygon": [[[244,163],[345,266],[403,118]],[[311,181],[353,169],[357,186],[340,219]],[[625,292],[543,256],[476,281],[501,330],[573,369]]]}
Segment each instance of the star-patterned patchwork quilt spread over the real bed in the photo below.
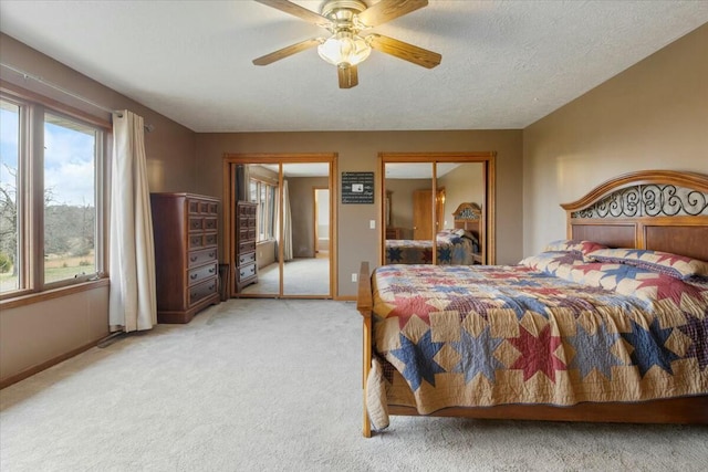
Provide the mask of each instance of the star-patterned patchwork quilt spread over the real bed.
{"label": "star-patterned patchwork quilt spread over the real bed", "polygon": [[548,252],[373,274],[367,409],[570,406],[708,394],[708,279]]}

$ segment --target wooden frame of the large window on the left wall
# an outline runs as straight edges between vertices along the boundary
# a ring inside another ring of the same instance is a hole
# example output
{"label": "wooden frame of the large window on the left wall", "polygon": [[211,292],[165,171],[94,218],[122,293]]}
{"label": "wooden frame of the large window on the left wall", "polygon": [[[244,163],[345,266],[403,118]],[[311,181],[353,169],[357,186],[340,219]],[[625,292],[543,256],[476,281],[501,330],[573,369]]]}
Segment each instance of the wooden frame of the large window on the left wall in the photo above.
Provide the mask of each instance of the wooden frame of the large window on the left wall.
{"label": "wooden frame of the large window on the left wall", "polygon": [[[107,191],[112,140],[111,123],[45,96],[2,84],[0,98],[19,107],[18,133],[18,248],[20,270],[17,290],[0,293],[2,307],[33,303],[48,294],[74,293],[82,284],[107,282]],[[60,116],[95,129],[94,149],[94,259],[95,272],[44,282],[44,117]],[[38,296],[39,295],[39,296]]]}

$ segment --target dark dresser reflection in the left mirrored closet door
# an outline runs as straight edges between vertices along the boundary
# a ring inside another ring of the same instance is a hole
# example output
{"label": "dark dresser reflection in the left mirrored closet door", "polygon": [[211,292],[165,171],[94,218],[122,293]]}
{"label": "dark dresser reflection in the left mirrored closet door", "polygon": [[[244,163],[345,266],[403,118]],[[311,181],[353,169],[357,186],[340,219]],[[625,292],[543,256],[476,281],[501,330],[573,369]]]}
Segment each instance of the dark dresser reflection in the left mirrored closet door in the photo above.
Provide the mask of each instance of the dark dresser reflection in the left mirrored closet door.
{"label": "dark dresser reflection in the left mirrored closet door", "polygon": [[236,203],[236,268],[233,271],[236,292],[246,285],[258,282],[258,264],[256,262],[257,203],[238,201]]}

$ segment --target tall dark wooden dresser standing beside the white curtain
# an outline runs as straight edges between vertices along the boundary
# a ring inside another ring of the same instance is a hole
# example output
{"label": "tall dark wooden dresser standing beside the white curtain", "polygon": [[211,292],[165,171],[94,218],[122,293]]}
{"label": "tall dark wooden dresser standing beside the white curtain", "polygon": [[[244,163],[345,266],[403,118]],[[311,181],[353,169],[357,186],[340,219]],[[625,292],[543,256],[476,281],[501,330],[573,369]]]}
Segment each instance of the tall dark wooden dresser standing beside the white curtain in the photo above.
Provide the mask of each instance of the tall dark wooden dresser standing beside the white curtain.
{"label": "tall dark wooden dresser standing beside the white curtain", "polygon": [[157,274],[157,322],[189,323],[218,304],[219,200],[192,193],[150,193]]}

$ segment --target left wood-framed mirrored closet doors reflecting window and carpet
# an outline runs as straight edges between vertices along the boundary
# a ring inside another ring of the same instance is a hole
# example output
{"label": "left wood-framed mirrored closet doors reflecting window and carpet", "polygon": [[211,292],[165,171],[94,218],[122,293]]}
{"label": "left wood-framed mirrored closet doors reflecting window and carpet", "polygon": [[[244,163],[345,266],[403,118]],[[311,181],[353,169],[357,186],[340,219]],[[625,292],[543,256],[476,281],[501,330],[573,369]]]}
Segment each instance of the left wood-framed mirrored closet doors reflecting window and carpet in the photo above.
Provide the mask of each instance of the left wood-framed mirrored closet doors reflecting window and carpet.
{"label": "left wood-framed mirrored closet doors reflecting window and carpet", "polygon": [[[231,297],[331,298],[336,293],[335,166],[332,154],[225,155],[223,245],[236,280],[229,284]],[[240,253],[242,230],[235,211],[243,200],[258,213],[252,255]],[[240,286],[244,259],[256,260],[257,274]]]}

